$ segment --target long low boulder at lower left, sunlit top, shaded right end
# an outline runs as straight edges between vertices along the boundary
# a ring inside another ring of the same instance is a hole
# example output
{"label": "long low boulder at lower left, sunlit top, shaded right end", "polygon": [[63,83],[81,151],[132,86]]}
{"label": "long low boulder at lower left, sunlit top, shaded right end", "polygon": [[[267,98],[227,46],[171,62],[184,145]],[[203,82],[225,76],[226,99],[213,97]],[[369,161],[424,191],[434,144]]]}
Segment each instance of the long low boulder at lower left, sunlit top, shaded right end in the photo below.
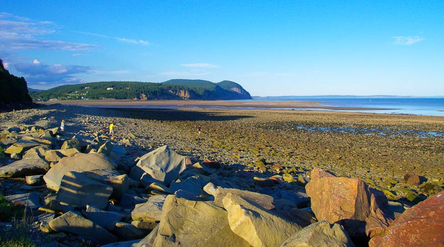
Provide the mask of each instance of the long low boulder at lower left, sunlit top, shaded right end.
{"label": "long low boulder at lower left, sunlit top, shaded right end", "polygon": [[118,238],[109,233],[103,227],[94,224],[80,214],[69,211],[53,219],[49,223],[51,229],[56,232],[70,232],[84,237],[96,239],[101,244],[115,242]]}

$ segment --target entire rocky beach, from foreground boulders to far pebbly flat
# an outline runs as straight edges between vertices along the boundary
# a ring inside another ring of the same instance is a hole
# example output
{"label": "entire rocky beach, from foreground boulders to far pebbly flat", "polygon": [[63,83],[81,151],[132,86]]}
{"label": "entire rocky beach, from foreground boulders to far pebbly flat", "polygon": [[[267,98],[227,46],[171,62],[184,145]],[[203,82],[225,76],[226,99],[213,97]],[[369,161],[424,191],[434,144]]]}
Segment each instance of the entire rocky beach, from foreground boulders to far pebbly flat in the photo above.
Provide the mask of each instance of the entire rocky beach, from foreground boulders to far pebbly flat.
{"label": "entire rocky beach, from foreground boulders to far pebbly flat", "polygon": [[444,244],[442,117],[48,104],[0,130],[37,245]]}

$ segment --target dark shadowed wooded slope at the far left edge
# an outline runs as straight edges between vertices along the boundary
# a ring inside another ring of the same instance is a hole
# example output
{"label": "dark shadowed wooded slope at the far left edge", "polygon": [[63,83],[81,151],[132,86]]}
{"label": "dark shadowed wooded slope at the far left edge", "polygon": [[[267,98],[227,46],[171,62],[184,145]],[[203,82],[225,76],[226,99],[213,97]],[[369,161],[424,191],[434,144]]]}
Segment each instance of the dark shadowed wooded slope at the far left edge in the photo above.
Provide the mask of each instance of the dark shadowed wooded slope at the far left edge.
{"label": "dark shadowed wooded slope at the far left edge", "polygon": [[0,59],[0,108],[18,109],[28,107],[31,103],[26,80],[10,74]]}

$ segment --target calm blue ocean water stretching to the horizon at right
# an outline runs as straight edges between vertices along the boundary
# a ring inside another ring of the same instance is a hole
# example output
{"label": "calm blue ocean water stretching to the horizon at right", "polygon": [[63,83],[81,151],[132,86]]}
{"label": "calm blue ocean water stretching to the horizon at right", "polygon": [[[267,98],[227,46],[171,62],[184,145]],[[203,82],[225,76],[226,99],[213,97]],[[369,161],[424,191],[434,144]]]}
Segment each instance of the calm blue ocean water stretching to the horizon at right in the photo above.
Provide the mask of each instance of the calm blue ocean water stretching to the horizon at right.
{"label": "calm blue ocean water stretching to the horizon at right", "polygon": [[[274,98],[253,101],[298,100],[317,101],[325,106],[389,108],[381,110],[331,110],[337,112],[363,112],[444,116],[444,98]],[[321,110],[321,109],[318,109]],[[323,110],[325,111],[325,110]]]}

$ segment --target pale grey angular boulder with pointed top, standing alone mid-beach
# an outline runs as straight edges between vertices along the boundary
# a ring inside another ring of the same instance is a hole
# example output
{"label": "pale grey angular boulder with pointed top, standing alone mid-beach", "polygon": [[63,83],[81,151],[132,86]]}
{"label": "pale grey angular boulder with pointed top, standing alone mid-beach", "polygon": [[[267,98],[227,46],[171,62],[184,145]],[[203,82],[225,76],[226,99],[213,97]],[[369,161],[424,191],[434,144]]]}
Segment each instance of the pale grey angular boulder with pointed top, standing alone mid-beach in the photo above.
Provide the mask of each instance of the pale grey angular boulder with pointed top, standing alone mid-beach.
{"label": "pale grey angular boulder with pointed top, standing alone mid-beach", "polygon": [[130,176],[138,181],[143,173],[147,173],[154,179],[169,184],[185,169],[186,156],[163,146],[140,157],[136,166],[131,169]]}

